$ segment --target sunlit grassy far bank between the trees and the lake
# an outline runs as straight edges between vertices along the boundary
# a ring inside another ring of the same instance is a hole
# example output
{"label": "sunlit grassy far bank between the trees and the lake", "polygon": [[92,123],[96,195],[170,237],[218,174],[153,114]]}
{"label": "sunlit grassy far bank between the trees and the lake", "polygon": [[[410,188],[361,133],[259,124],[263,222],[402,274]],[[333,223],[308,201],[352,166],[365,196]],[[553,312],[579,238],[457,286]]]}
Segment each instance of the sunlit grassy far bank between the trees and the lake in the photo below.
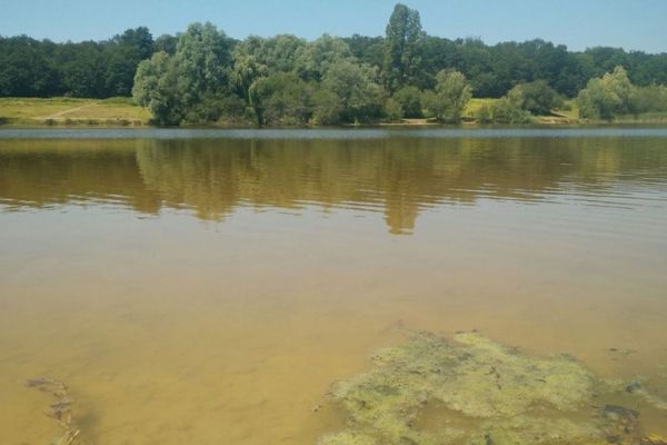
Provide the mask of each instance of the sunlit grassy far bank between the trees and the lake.
{"label": "sunlit grassy far bank between the trees and the lake", "polygon": [[[484,106],[492,106],[499,99],[471,99],[464,111],[464,125],[476,126],[477,111]],[[80,98],[0,98],[0,127],[42,128],[115,128],[150,127],[150,113],[135,105],[131,98],[80,99]],[[565,109],[554,110],[549,116],[536,116],[537,125],[581,125],[581,123],[667,123],[667,113],[645,113],[623,116],[613,122],[583,121],[574,101],[567,101]],[[374,126],[425,127],[440,125],[435,119],[401,119],[397,122],[380,122]],[[213,123],[208,127],[238,127],[238,123]]]}

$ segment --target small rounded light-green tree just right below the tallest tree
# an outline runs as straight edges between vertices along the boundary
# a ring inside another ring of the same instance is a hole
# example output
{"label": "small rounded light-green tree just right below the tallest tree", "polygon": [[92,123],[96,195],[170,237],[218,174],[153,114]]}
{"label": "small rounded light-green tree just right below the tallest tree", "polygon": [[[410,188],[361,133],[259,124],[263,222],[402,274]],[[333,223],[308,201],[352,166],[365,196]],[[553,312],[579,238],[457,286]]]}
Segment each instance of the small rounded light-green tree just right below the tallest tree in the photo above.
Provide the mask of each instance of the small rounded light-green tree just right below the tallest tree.
{"label": "small rounded light-green tree just right below the tallest tree", "polygon": [[440,71],[435,91],[425,95],[429,115],[442,122],[458,123],[472,92],[466,77],[458,71]]}

